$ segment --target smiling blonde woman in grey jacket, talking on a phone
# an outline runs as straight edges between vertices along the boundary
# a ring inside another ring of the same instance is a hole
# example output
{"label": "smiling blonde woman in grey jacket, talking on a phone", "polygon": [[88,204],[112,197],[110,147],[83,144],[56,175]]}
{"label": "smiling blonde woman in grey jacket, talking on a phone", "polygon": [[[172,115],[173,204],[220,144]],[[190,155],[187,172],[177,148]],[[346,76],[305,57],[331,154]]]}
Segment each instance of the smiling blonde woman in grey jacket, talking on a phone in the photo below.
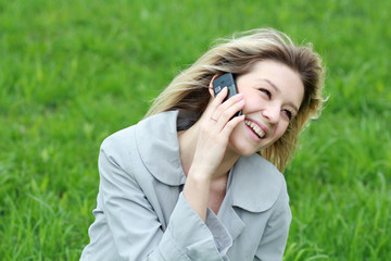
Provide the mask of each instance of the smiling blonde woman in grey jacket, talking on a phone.
{"label": "smiling blonde woman in grey jacket, talking on a phone", "polygon": [[[227,88],[212,88],[224,73],[239,91],[226,101]],[[274,29],[212,48],[144,120],[103,141],[81,260],[282,260],[291,212],[280,172],[321,86],[318,54]]]}

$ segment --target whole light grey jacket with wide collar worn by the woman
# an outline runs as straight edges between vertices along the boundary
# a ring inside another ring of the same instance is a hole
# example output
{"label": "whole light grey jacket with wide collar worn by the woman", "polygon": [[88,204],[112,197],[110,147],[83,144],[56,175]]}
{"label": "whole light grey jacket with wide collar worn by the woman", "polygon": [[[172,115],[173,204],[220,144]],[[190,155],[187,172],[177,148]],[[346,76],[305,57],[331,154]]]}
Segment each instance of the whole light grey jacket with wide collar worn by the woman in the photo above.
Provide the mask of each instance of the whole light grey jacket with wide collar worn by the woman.
{"label": "whole light grey jacket with wide collar worn by the woman", "polygon": [[268,161],[241,157],[217,215],[205,223],[181,191],[177,111],[108,137],[90,244],[81,260],[282,260],[291,211],[287,185]]}

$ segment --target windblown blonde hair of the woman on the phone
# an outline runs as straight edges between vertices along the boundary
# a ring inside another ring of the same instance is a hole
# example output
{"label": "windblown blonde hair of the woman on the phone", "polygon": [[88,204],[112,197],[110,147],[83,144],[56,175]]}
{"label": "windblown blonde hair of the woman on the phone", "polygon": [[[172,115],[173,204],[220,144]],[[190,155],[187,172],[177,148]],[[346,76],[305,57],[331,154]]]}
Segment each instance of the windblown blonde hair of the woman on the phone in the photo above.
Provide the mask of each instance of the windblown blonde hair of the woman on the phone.
{"label": "windblown blonde hair of the woman on the phone", "polygon": [[299,73],[304,85],[304,98],[299,113],[292,119],[286,133],[258,152],[283,171],[297,149],[300,132],[311,119],[320,113],[325,101],[321,98],[324,69],[320,57],[313,51],[311,44],[295,46],[287,35],[278,30],[254,29],[236,34],[231,39],[223,39],[222,44],[215,45],[173,79],[154,100],[146,117],[164,111],[182,110],[197,121],[211,99],[207,88],[215,74],[245,74],[256,62],[263,60],[288,65]]}

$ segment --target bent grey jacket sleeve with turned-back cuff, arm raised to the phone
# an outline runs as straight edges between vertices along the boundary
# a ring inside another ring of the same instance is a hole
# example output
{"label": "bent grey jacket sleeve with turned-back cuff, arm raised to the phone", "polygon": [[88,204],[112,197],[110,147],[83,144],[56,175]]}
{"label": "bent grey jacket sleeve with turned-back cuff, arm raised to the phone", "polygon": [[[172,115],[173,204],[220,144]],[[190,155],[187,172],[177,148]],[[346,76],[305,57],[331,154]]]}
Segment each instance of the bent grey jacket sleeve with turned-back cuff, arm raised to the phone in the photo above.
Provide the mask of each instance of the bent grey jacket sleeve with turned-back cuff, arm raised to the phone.
{"label": "bent grey jacket sleeve with turned-back cuff, arm raised to the phone", "polygon": [[123,147],[105,141],[99,157],[102,209],[122,260],[224,260],[228,232],[210,210],[204,223],[181,194],[163,232]]}

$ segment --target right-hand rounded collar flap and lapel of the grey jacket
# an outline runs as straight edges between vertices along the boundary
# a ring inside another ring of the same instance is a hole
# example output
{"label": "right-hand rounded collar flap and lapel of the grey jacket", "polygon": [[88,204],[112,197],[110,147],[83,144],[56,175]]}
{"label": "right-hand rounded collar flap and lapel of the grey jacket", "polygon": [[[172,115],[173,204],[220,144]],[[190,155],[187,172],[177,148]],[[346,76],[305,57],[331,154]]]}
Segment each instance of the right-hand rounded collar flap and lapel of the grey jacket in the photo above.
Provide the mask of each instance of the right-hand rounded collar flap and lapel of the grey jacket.
{"label": "right-hand rounded collar flap and lapel of the grey jacket", "polygon": [[280,192],[282,174],[258,154],[241,157],[229,172],[228,190],[217,214],[232,240],[245,227],[241,216],[268,210]]}

